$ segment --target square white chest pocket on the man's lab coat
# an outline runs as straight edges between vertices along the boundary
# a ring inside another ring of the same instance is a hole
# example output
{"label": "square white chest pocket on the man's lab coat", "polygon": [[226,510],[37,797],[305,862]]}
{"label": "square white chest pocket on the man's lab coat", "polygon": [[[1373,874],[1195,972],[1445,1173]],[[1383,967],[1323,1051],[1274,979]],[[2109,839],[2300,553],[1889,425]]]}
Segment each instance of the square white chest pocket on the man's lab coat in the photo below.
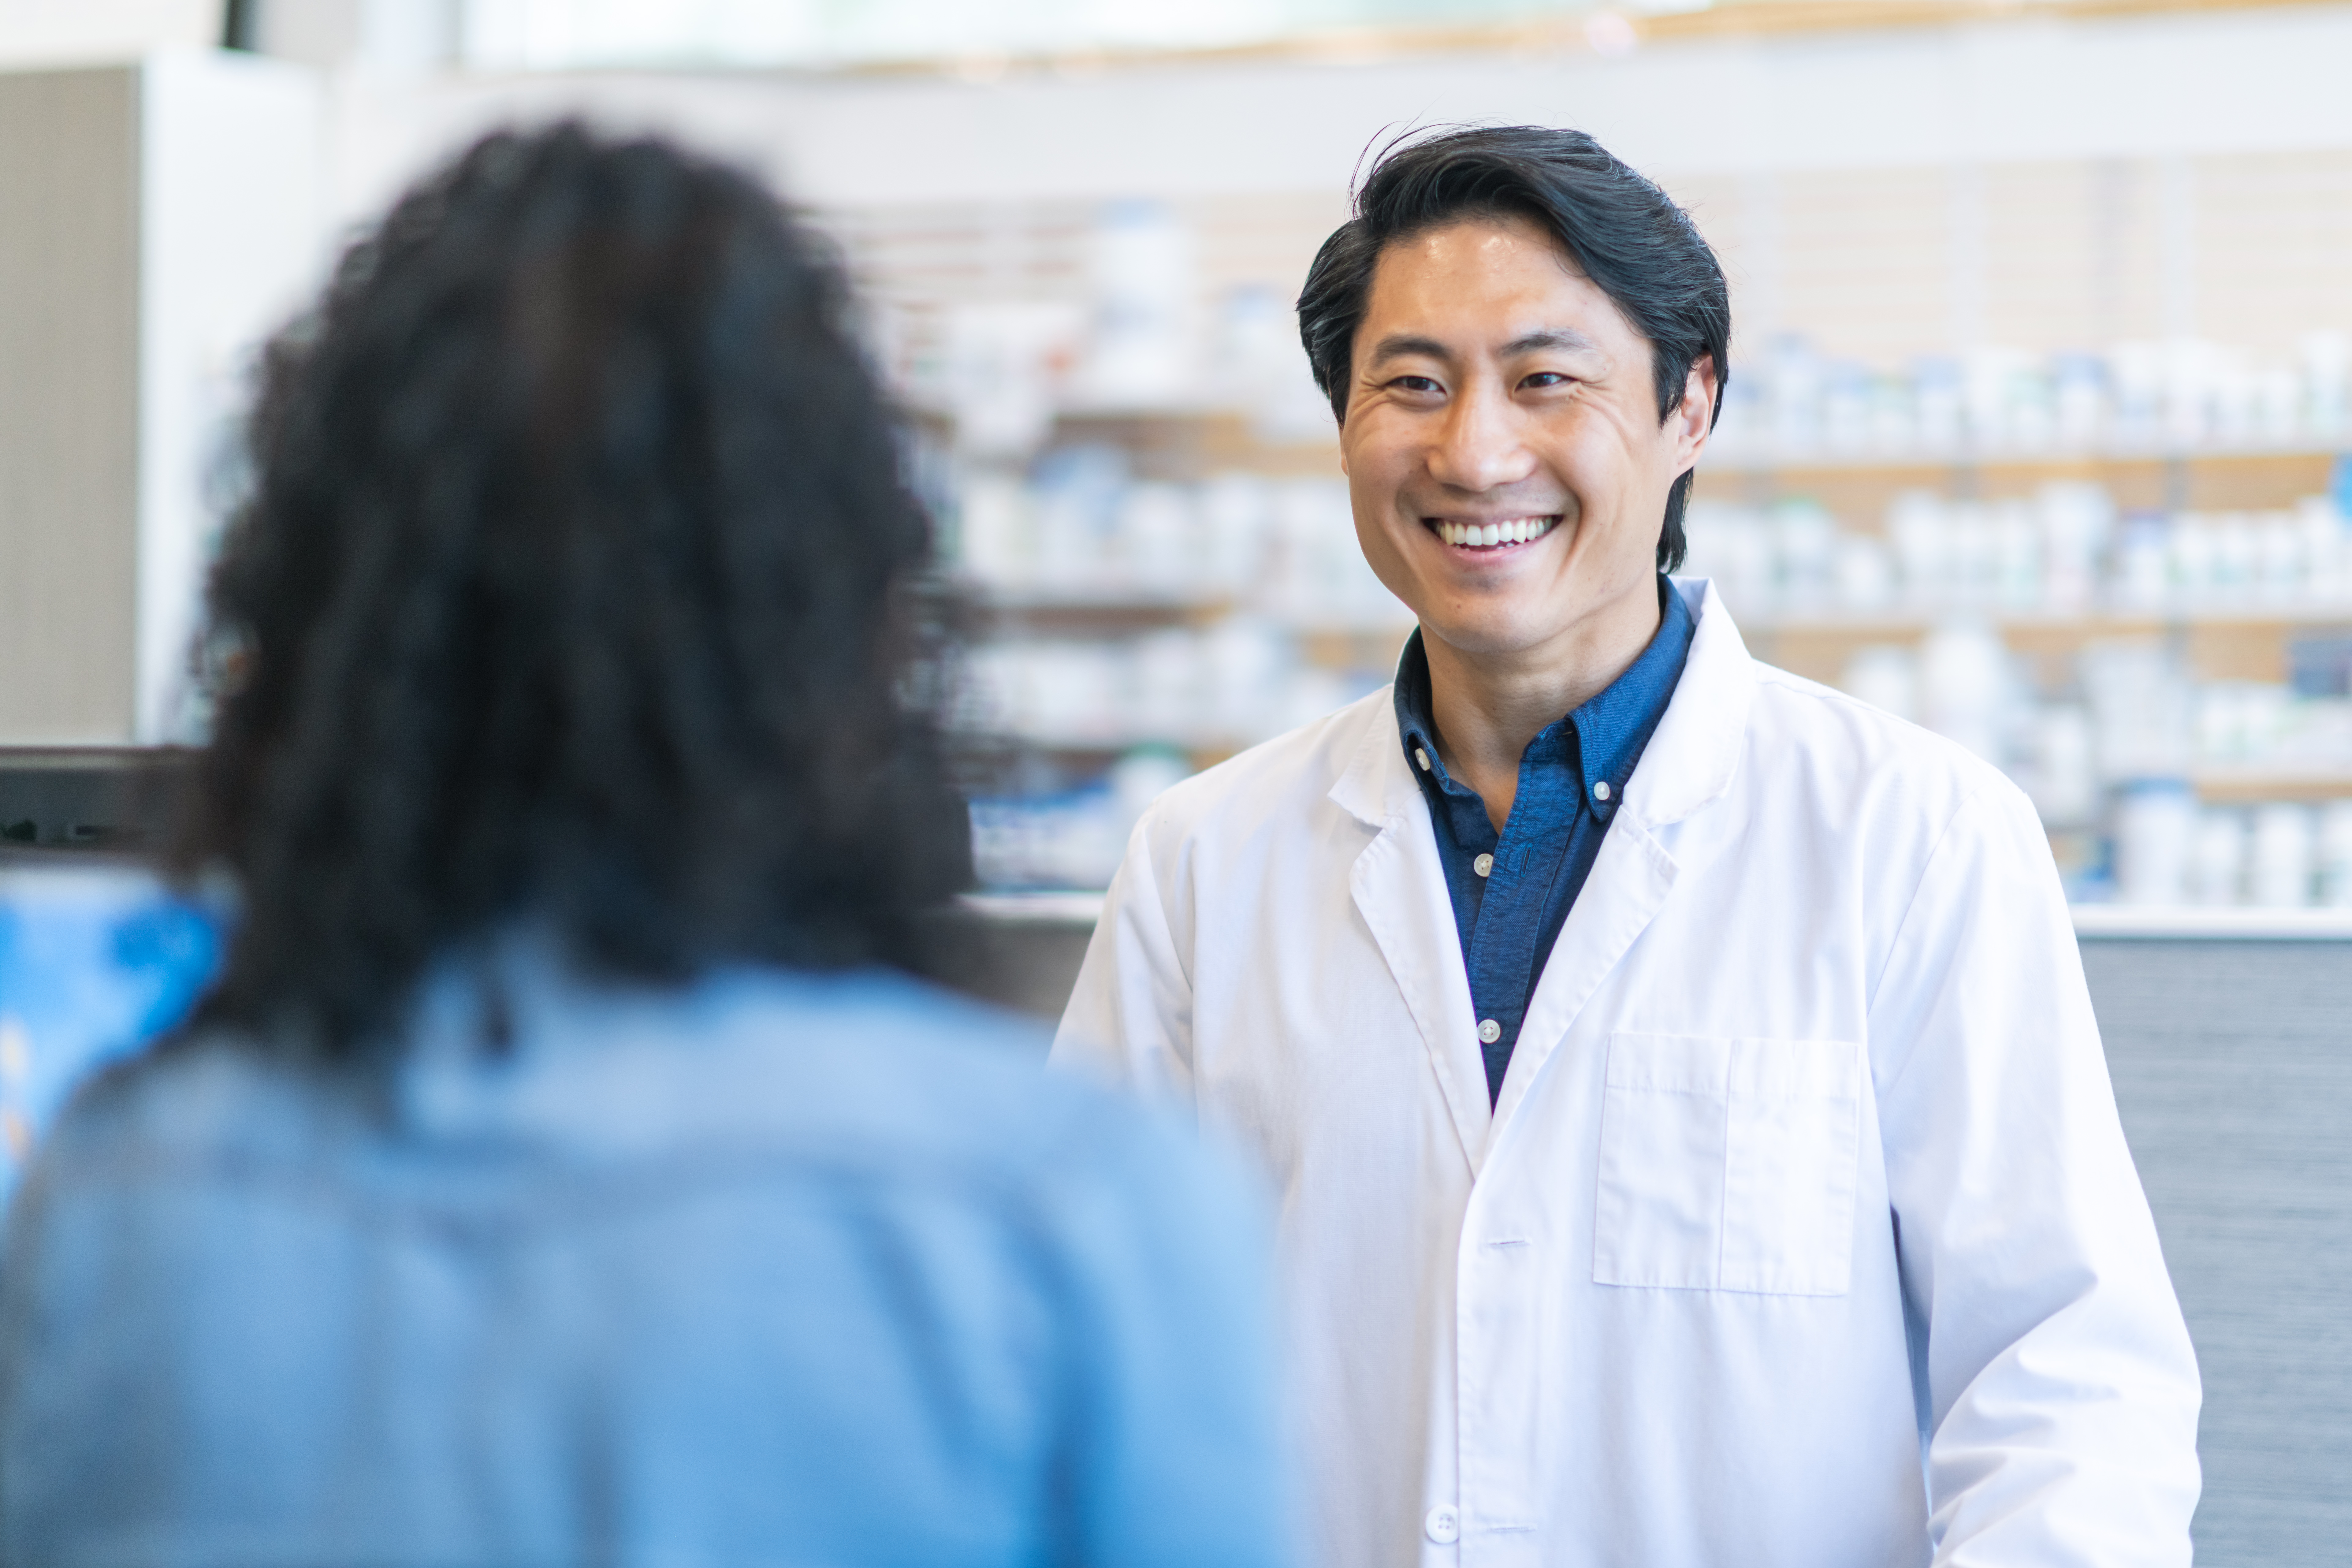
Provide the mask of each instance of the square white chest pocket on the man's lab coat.
{"label": "square white chest pocket on the man's lab coat", "polygon": [[1611,1034],[1592,1284],[1844,1295],[1863,1048]]}

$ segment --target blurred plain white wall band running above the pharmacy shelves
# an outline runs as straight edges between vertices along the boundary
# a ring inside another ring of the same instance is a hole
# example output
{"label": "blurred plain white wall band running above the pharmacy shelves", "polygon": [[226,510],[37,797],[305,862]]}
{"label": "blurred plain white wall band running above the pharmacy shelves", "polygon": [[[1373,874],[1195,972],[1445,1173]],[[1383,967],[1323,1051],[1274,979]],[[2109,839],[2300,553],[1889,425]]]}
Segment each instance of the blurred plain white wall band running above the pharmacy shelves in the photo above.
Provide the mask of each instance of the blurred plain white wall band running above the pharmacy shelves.
{"label": "blurred plain white wall band running above the pharmacy shelves", "polygon": [[1406,125],[1578,125],[1661,176],[2352,146],[2352,7],[1653,45],[1623,59],[1101,75],[346,80],[336,197],[506,118],[595,113],[769,162],[821,207],[1329,190]]}

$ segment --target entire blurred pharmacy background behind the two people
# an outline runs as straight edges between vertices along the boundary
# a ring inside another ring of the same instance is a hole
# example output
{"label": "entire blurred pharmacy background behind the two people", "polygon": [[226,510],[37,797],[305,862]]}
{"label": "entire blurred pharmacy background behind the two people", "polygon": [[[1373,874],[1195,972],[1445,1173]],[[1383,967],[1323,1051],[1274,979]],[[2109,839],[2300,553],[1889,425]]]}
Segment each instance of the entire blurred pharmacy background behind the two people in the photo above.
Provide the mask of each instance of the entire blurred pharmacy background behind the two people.
{"label": "entire blurred pharmacy background behind the two people", "polygon": [[2347,68],[2345,2],[0,0],[0,1171],[214,959],[120,856],[205,733],[256,346],[475,134],[675,132],[837,237],[981,607],[960,964],[1051,1013],[1138,811],[1409,630],[1291,317],[1350,176],[1576,125],[1731,275],[1689,571],[2042,809],[2206,1366],[2201,1559],[2340,1563]]}

